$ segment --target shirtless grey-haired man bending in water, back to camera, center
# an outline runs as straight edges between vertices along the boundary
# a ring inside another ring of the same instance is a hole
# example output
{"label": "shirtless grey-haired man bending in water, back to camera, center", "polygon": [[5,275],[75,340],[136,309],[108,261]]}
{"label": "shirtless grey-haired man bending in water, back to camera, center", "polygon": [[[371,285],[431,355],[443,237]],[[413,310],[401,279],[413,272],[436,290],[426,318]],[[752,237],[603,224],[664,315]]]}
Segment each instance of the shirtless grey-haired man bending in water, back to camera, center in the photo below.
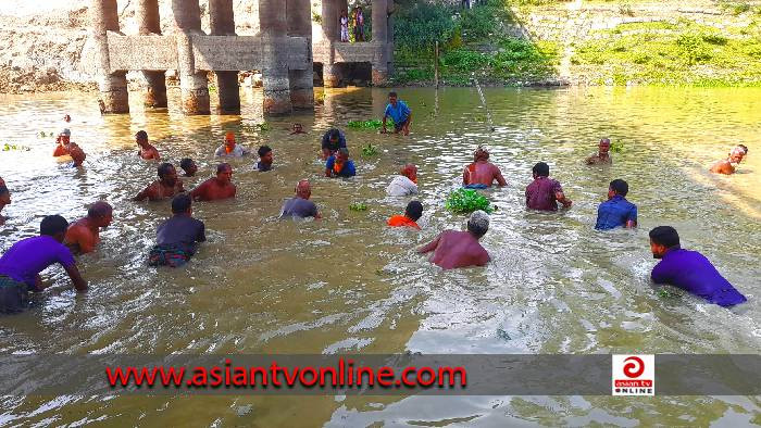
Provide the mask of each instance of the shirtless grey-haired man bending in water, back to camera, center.
{"label": "shirtless grey-haired man bending in water, back to camera, center", "polygon": [[433,251],[431,263],[444,269],[485,266],[490,257],[478,240],[486,235],[487,230],[489,230],[489,215],[481,210],[474,211],[467,221],[467,231],[445,230],[417,252],[425,254]]}

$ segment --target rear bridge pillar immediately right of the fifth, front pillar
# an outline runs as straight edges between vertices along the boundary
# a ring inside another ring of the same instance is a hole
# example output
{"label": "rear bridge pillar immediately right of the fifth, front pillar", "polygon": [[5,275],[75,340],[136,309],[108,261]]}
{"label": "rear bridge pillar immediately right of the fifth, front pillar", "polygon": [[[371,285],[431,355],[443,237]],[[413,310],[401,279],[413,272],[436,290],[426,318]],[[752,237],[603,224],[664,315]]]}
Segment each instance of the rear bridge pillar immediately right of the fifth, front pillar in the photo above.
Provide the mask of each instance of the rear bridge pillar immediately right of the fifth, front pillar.
{"label": "rear bridge pillar immediately right of the fifth, front pillar", "polygon": [[288,36],[305,37],[309,58],[305,70],[288,72],[290,81],[290,102],[294,109],[314,109],[314,66],[312,60],[312,8],[310,0],[286,0],[288,14]]}

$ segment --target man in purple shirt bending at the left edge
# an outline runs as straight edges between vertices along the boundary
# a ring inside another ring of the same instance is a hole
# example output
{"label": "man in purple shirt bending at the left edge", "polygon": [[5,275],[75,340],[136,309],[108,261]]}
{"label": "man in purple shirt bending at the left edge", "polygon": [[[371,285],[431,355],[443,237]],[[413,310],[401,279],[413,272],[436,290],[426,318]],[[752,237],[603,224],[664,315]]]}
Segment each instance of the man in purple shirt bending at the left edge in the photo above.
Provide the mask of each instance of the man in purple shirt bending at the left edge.
{"label": "man in purple shirt bending at the left edge", "polygon": [[23,239],[0,257],[0,313],[23,311],[28,304],[28,292],[42,291],[39,273],[53,263],[60,263],[77,291],[87,290],[71,251],[62,243],[68,222],[60,215],[49,215],[39,225],[39,236]]}

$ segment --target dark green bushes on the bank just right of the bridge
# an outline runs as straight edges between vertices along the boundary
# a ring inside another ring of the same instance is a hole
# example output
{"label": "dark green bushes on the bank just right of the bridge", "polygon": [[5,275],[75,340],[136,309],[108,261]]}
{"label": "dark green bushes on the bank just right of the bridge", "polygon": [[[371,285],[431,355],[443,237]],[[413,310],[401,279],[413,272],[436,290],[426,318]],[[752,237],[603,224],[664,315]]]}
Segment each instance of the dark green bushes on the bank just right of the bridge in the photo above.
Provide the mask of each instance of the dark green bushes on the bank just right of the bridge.
{"label": "dark green bushes on the bank just right of the bridge", "polygon": [[513,21],[506,0],[461,10],[414,2],[395,20],[397,84],[434,78],[434,47],[439,43],[439,78],[448,85],[511,84],[554,75],[559,49],[552,42],[533,43],[506,29]]}

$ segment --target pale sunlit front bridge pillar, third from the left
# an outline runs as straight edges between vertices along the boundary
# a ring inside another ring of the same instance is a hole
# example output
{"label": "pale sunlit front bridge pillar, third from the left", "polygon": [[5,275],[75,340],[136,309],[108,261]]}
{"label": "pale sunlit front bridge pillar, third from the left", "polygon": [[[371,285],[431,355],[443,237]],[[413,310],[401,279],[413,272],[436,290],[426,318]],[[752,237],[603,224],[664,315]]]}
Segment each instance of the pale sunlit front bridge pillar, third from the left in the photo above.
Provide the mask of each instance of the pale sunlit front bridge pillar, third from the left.
{"label": "pale sunlit front bridge pillar, third from the left", "polygon": [[192,36],[201,33],[201,10],[198,0],[172,0],[174,24],[177,29],[177,60],[183,113],[209,114],[209,79],[207,73],[196,70]]}

